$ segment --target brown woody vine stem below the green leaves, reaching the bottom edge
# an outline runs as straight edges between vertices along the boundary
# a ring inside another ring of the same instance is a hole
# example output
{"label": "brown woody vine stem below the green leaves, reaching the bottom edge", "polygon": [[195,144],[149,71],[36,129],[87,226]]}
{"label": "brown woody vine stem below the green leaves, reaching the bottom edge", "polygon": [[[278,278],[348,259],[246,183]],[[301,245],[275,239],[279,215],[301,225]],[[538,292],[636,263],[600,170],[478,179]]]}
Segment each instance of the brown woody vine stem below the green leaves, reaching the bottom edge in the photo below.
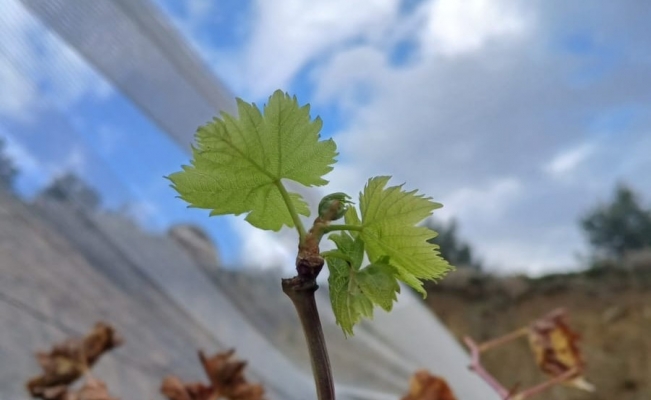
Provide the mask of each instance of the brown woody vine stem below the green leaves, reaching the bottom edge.
{"label": "brown woody vine stem below the green leaves, reaching the bottom edge", "polygon": [[303,333],[307,341],[312,373],[316,385],[317,399],[334,400],[335,389],[330,368],[330,359],[326,348],[319,311],[316,307],[314,292],[319,288],[314,278],[304,280],[299,276],[282,280],[283,292],[292,300],[296,313],[301,320]]}

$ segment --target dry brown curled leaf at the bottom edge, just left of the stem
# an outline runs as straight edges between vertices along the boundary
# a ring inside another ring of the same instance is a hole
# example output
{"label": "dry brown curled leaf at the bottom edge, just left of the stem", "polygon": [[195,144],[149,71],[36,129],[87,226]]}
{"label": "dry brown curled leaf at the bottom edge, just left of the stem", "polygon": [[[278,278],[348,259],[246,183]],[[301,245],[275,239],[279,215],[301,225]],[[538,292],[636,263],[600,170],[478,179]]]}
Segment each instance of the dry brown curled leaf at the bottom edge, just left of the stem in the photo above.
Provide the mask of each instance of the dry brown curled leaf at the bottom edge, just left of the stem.
{"label": "dry brown curled leaf at the bottom edge, just left of the stem", "polygon": [[264,388],[247,382],[246,362],[232,360],[234,353],[235,350],[229,350],[207,357],[199,352],[210,385],[183,383],[175,376],[168,376],[163,380],[161,392],[169,400],[264,400]]}

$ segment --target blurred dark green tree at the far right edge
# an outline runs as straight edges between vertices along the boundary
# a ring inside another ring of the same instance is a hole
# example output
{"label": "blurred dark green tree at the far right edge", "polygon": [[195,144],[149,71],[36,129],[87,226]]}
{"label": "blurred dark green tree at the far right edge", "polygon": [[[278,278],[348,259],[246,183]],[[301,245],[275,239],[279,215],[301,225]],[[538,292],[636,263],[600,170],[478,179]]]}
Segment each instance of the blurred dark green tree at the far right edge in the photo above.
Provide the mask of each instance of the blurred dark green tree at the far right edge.
{"label": "blurred dark green tree at the far right edge", "polygon": [[626,252],[651,247],[651,210],[625,185],[612,202],[602,204],[580,221],[596,255],[621,259]]}

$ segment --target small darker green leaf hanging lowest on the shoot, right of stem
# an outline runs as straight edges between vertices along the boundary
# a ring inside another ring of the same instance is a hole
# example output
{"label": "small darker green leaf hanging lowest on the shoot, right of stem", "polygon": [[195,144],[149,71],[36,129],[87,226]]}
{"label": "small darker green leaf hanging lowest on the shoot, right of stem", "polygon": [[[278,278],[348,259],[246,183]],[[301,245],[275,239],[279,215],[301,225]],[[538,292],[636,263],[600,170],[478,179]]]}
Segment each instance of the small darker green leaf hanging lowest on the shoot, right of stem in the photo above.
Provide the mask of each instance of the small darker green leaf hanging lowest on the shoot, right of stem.
{"label": "small darker green leaf hanging lowest on the shoot, right of stem", "polygon": [[400,285],[386,257],[361,268],[364,258],[361,238],[342,232],[330,235],[330,239],[337,245],[337,250],[323,253],[330,271],[330,302],[337,324],[345,334],[352,335],[353,326],[362,317],[373,317],[374,305],[391,311]]}

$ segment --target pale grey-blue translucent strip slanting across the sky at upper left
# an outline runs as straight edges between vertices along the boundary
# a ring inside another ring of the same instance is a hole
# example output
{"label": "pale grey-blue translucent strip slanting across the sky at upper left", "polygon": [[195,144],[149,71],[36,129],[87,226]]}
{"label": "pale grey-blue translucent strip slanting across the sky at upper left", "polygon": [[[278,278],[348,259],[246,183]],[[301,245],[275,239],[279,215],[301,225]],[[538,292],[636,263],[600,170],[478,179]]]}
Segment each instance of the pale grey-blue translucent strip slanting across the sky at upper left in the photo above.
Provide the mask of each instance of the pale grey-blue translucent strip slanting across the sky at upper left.
{"label": "pale grey-blue translucent strip slanting across the sky at upper left", "polygon": [[143,0],[22,0],[177,143],[189,149],[197,126],[234,97]]}

